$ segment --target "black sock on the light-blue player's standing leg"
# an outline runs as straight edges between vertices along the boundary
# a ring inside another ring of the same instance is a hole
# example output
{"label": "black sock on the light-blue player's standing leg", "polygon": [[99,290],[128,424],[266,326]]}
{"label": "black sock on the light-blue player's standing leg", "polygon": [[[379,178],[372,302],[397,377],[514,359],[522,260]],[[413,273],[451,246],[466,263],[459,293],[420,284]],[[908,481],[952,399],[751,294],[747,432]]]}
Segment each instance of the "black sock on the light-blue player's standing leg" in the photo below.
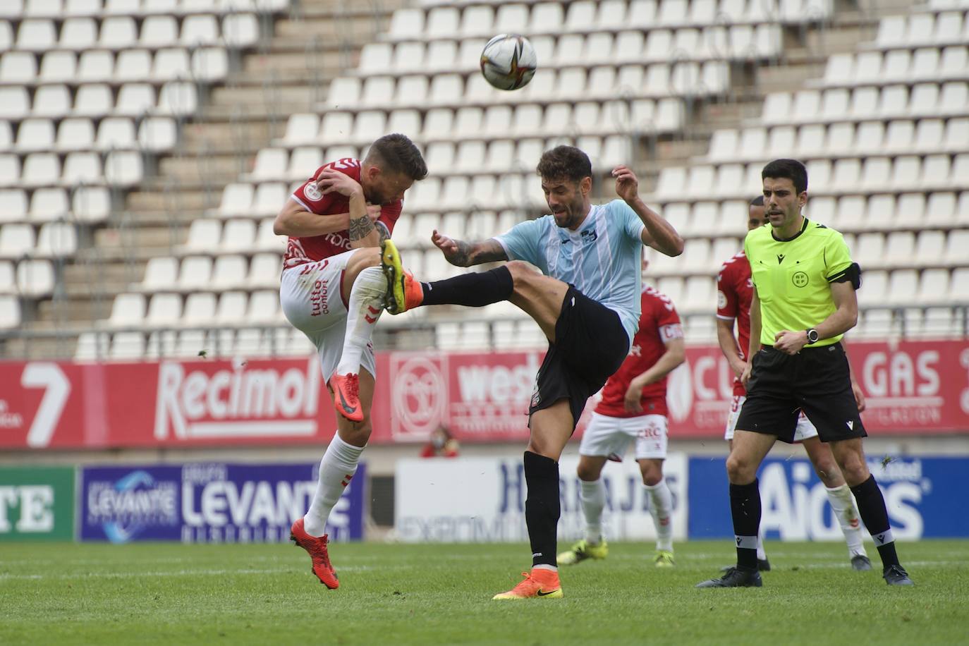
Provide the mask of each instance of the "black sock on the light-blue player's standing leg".
{"label": "black sock on the light-blue player's standing leg", "polygon": [[558,498],[558,463],[525,451],[525,524],[532,543],[532,566],[557,566],[556,532],[562,508]]}

